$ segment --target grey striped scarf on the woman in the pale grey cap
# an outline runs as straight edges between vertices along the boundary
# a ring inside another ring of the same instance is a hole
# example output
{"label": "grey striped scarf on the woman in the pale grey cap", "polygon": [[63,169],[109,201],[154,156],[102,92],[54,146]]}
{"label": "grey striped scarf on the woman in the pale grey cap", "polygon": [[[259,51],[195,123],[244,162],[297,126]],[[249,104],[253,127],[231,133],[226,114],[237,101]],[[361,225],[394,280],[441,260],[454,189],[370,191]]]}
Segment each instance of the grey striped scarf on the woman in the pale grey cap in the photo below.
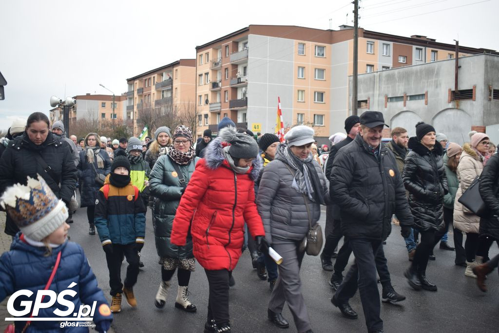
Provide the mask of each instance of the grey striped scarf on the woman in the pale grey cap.
{"label": "grey striped scarf on the woman in the pale grey cap", "polygon": [[308,154],[307,158],[302,161],[294,156],[287,144],[282,143],[279,145],[277,153],[282,155],[286,163],[295,170],[292,188],[298,193],[305,194],[310,201],[324,205],[322,185],[313,165],[312,153]]}

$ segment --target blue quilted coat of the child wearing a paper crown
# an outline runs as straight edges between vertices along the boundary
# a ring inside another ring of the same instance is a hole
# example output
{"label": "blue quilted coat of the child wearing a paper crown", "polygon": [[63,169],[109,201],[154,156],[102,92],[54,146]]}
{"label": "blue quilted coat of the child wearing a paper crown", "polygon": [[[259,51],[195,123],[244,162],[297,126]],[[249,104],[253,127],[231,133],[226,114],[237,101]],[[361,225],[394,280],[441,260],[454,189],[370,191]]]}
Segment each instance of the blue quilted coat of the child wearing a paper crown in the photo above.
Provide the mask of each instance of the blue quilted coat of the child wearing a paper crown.
{"label": "blue quilted coat of the child wearing a paper crown", "polygon": [[[72,162],[71,162],[72,163]],[[74,166],[74,164],[73,164]],[[112,321],[113,316],[109,311],[99,311],[101,305],[108,305],[102,290],[97,286],[97,279],[88,264],[88,260],[83,253],[83,249],[76,243],[65,242],[53,248],[52,254],[45,256],[45,247],[34,247],[22,240],[21,233],[15,236],[10,246],[10,251],[4,252],[0,258],[0,301],[8,295],[22,289],[33,292],[31,297],[19,296],[15,299],[13,307],[17,311],[24,309],[21,302],[35,301],[36,293],[45,288],[46,283],[52,273],[57,254],[62,251],[59,267],[55,273],[49,290],[59,294],[65,290],[73,290],[76,296],[64,296],[66,301],[72,302],[75,312],[83,304],[92,306],[96,301],[94,322],[103,320]],[[68,288],[72,283],[76,285]],[[44,302],[47,298],[44,299]],[[53,311],[66,311],[68,308],[57,302],[47,309],[40,309],[38,317],[55,317]],[[109,310],[109,308],[107,308]],[[29,317],[27,314],[25,317]],[[73,318],[73,313],[69,316]],[[26,322],[15,322],[16,332],[20,332]],[[71,330],[72,329],[72,330]],[[17,331],[18,330],[18,331]],[[31,322],[27,332],[61,332],[60,322]],[[88,332],[88,328],[66,328],[64,332]]]}

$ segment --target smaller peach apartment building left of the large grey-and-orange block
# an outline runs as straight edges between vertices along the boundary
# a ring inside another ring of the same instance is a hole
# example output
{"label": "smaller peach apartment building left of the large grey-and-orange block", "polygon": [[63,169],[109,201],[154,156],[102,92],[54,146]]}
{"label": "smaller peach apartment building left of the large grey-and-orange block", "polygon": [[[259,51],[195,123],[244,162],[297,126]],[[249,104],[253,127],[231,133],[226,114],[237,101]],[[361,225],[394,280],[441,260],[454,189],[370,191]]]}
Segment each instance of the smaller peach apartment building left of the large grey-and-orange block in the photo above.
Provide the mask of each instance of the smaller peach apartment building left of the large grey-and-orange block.
{"label": "smaller peach apartment building left of the large grey-and-orange block", "polygon": [[196,59],[180,59],[128,78],[125,119],[133,123],[133,134],[138,135],[144,127],[141,112],[195,110],[195,81]]}

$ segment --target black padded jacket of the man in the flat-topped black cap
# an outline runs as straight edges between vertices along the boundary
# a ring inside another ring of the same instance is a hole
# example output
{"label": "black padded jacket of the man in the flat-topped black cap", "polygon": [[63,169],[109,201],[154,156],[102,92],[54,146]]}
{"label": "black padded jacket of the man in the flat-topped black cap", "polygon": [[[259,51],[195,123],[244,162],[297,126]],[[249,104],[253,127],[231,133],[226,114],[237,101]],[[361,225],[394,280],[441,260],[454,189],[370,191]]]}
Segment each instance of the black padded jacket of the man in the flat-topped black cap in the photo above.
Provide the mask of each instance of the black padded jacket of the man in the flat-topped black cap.
{"label": "black padded jacket of the man in the flat-topped black cap", "polygon": [[394,213],[400,225],[412,226],[397,162],[384,145],[378,158],[358,134],[336,154],[329,179],[345,237],[384,240],[390,235]]}

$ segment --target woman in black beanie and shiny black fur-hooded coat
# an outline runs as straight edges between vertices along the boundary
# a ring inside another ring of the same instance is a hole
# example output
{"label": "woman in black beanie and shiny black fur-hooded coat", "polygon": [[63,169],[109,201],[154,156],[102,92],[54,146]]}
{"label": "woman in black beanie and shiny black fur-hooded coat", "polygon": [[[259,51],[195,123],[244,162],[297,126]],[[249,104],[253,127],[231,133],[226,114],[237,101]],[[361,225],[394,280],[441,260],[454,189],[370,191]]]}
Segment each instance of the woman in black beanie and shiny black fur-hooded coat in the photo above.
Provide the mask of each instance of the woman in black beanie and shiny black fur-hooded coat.
{"label": "woman in black beanie and shiny black fur-hooded coat", "polygon": [[405,272],[409,285],[416,290],[437,291],[437,286],[426,278],[426,266],[433,248],[445,234],[443,204],[448,187],[442,159],[444,149],[435,141],[435,128],[419,122],[416,136],[409,139],[411,151],[402,170],[404,186],[409,191],[409,207],[414,216],[413,228],[421,234],[414,260]]}

